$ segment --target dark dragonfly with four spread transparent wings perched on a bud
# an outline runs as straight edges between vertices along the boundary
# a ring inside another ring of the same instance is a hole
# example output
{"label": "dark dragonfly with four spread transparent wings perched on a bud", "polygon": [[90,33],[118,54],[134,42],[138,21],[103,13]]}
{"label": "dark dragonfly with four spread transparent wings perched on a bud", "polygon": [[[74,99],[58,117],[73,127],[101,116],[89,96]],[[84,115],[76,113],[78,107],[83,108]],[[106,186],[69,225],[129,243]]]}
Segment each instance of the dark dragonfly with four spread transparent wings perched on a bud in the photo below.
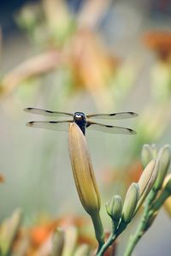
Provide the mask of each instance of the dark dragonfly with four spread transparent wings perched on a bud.
{"label": "dark dragonfly with four spread transparent wings perched on a bud", "polygon": [[58,112],[51,110],[41,110],[35,108],[26,108],[25,111],[41,115],[41,116],[54,116],[54,117],[66,117],[68,120],[64,121],[32,121],[27,122],[27,126],[32,128],[46,128],[50,130],[57,131],[68,131],[69,123],[75,122],[85,135],[85,129],[94,129],[97,131],[102,131],[109,134],[136,134],[136,132],[131,128],[124,128],[120,126],[108,125],[99,122],[92,122],[90,119],[107,119],[107,120],[117,120],[117,119],[125,119],[132,118],[138,116],[137,113],[134,112],[118,112],[112,114],[92,114],[85,115],[83,112],[75,112],[74,114],[66,113],[66,112]]}

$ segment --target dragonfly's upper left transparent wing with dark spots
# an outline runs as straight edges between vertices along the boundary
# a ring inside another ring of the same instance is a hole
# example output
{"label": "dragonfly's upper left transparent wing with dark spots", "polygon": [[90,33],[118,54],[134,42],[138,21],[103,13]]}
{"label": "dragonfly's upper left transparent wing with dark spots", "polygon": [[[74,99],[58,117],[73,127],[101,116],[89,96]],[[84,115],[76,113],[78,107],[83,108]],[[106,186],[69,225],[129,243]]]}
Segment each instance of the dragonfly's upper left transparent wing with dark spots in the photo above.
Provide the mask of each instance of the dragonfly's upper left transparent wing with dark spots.
{"label": "dragonfly's upper left transparent wing with dark spots", "polygon": [[65,112],[57,112],[57,111],[50,111],[50,110],[40,110],[34,108],[26,108],[24,111],[27,111],[32,114],[42,115],[42,116],[73,116],[73,114],[65,113]]}

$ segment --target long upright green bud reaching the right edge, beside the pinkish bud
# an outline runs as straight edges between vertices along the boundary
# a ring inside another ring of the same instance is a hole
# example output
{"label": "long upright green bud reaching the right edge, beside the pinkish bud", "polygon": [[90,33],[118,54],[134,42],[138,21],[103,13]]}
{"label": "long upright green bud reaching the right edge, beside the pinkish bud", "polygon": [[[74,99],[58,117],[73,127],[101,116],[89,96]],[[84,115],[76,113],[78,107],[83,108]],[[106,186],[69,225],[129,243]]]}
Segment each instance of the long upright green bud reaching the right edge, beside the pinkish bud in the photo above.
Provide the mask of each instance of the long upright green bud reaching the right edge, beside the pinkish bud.
{"label": "long upright green bud reaching the right edge, beside the pinkish bud", "polygon": [[158,152],[157,158],[159,159],[159,170],[154,188],[159,190],[162,188],[162,182],[168,172],[170,164],[170,146],[162,146],[161,150]]}

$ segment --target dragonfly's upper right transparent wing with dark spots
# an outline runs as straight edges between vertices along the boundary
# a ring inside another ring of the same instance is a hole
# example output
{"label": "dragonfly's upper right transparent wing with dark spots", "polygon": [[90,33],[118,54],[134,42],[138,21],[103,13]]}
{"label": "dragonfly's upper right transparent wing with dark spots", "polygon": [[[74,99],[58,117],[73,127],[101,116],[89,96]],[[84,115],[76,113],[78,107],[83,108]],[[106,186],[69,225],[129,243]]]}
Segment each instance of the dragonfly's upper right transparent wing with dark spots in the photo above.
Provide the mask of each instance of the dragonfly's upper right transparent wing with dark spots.
{"label": "dragonfly's upper right transparent wing with dark spots", "polygon": [[132,118],[138,116],[137,113],[134,112],[119,112],[113,114],[94,114],[88,115],[87,118],[102,118],[102,119],[125,119],[125,118]]}

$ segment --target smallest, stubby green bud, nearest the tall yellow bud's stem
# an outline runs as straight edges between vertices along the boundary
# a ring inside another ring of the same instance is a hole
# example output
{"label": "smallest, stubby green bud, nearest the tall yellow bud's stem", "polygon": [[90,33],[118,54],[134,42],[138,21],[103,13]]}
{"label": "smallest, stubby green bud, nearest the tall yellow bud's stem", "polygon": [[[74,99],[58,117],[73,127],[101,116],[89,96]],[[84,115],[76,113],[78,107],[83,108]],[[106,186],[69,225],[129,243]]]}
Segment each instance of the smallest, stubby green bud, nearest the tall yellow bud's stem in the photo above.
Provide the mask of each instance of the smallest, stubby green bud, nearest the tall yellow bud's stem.
{"label": "smallest, stubby green bud, nearest the tall yellow bud's stem", "polygon": [[106,211],[109,214],[109,217],[111,217],[111,219],[114,222],[119,221],[121,217],[121,210],[122,210],[121,196],[115,195],[109,203],[106,203],[105,206],[106,206]]}

